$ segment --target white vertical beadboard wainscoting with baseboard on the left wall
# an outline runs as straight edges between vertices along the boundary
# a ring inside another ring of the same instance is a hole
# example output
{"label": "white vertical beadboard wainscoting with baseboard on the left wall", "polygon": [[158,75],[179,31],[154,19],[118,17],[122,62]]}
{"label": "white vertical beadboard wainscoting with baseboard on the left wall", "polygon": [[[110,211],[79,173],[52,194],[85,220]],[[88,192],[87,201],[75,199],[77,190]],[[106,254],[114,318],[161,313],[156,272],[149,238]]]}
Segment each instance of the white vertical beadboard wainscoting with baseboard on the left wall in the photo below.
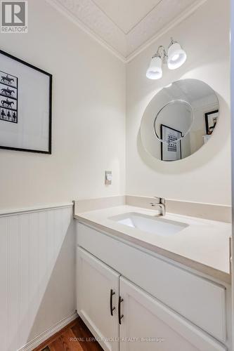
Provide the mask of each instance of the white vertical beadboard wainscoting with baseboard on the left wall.
{"label": "white vertical beadboard wainscoting with baseboard on the left wall", "polygon": [[77,317],[72,205],[0,216],[1,351],[32,350]]}

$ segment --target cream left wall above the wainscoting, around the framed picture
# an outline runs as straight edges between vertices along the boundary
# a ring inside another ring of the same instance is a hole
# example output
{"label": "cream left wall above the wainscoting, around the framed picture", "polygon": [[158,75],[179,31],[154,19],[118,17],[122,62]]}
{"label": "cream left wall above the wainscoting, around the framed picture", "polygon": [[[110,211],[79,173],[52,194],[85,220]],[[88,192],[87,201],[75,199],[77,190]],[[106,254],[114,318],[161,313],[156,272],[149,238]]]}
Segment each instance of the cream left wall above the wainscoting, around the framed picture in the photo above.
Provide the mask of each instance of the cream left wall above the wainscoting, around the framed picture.
{"label": "cream left wall above the wainscoting, around the framed picture", "polygon": [[0,150],[0,208],[124,194],[124,64],[46,1],[28,5],[28,34],[0,34],[1,50],[53,74],[53,154]]}

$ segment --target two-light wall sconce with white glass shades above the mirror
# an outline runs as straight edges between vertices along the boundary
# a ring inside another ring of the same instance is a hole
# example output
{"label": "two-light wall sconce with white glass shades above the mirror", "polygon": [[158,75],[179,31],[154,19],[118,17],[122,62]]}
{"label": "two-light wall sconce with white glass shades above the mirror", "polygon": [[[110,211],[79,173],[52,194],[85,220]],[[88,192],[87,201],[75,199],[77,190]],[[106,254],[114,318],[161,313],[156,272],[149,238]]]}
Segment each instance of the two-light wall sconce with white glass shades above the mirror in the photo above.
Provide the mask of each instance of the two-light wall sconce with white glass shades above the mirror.
{"label": "two-light wall sconce with white glass shades above the mirror", "polygon": [[148,79],[160,79],[162,77],[162,63],[167,64],[169,69],[181,67],[186,62],[186,52],[181,48],[177,41],[171,38],[168,50],[160,45],[157,48],[157,53],[152,56],[150,66],[147,69],[146,77]]}

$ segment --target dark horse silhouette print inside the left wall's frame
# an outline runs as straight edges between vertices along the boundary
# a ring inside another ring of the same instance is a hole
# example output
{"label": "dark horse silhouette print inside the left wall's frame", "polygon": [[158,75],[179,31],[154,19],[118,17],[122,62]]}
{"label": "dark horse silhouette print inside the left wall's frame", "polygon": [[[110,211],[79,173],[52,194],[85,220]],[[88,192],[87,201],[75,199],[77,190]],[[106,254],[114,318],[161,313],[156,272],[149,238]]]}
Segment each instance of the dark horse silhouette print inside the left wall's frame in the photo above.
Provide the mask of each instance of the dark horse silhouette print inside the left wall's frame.
{"label": "dark horse silhouette print inside the left wall's frame", "polygon": [[0,121],[18,123],[18,78],[0,71]]}

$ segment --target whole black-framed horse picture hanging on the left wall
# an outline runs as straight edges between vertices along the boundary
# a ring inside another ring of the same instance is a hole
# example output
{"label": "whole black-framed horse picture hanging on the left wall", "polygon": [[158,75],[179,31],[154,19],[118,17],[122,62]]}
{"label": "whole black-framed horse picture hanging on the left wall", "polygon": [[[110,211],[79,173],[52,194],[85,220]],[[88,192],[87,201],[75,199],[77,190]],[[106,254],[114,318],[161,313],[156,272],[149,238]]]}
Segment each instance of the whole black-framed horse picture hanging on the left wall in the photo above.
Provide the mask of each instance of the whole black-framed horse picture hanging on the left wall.
{"label": "whole black-framed horse picture hanging on the left wall", "polygon": [[0,50],[0,148],[51,154],[52,75]]}

